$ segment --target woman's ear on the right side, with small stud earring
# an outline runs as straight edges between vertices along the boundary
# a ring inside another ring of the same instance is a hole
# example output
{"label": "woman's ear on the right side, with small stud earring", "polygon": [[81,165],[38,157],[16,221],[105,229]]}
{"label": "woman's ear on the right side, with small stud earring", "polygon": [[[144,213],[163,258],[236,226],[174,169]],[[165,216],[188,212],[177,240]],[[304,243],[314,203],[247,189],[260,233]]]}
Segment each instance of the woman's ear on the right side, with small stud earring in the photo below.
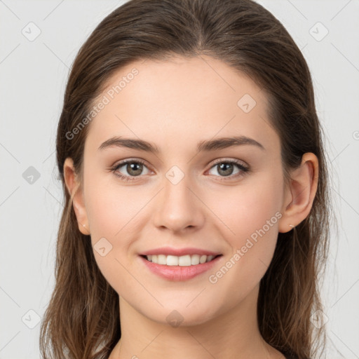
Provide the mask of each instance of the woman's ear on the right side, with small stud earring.
{"label": "woman's ear on the right side, with small stud earring", "polygon": [[299,168],[290,174],[290,184],[285,189],[285,200],[278,221],[278,231],[288,232],[309,215],[318,187],[318,158],[307,152]]}

